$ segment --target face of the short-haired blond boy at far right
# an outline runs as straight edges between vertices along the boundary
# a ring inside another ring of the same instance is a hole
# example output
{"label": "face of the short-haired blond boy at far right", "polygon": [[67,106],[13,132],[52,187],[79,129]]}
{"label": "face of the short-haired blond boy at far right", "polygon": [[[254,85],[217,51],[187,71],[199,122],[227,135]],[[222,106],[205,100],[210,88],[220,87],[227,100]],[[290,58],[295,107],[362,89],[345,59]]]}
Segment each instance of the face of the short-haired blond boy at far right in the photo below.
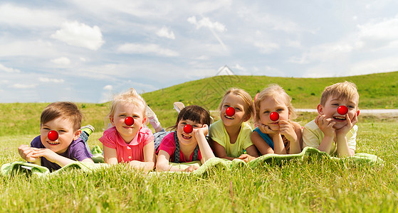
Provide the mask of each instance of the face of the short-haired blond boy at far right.
{"label": "face of the short-haired blond boy at far right", "polygon": [[337,99],[337,97],[329,97],[325,106],[321,104],[318,105],[318,113],[320,115],[325,115],[326,119],[332,118],[336,124],[333,126],[335,129],[340,129],[342,126],[345,126],[345,115],[341,115],[337,113],[337,108],[340,106],[345,106],[348,108],[348,117],[352,121],[354,119],[355,114],[357,113],[357,100],[348,100],[348,99]]}

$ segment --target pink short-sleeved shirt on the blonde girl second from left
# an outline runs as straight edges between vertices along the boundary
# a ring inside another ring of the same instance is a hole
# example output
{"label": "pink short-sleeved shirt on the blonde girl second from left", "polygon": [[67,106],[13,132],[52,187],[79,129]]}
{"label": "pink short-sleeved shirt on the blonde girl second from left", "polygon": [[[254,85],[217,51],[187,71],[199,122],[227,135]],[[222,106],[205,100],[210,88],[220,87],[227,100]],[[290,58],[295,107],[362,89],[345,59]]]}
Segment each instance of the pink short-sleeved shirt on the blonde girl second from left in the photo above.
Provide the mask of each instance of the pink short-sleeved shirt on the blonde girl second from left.
{"label": "pink short-sleeved shirt on the blonde girl second from left", "polygon": [[115,148],[117,162],[130,162],[131,160],[144,161],[144,146],[153,142],[154,136],[150,129],[142,127],[130,143],[126,143],[117,132],[116,127],[104,131],[100,138],[103,146]]}

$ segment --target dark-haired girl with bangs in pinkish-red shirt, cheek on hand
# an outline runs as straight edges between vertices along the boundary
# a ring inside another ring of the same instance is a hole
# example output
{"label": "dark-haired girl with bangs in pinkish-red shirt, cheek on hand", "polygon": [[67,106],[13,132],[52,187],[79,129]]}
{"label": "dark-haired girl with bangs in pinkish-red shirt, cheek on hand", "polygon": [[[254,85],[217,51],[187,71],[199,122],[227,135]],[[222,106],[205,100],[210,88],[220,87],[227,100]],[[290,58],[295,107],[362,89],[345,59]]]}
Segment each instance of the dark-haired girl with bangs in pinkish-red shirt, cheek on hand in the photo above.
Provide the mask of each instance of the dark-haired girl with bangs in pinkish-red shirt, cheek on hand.
{"label": "dark-haired girl with bangs in pinkish-red shirt, cheek on hand", "polygon": [[159,145],[156,170],[192,172],[199,167],[192,165],[182,170],[169,165],[169,161],[184,163],[200,160],[204,163],[214,158],[214,153],[206,140],[210,121],[209,111],[202,107],[191,105],[182,109],[178,114],[176,125],[172,127],[176,131],[164,136]]}

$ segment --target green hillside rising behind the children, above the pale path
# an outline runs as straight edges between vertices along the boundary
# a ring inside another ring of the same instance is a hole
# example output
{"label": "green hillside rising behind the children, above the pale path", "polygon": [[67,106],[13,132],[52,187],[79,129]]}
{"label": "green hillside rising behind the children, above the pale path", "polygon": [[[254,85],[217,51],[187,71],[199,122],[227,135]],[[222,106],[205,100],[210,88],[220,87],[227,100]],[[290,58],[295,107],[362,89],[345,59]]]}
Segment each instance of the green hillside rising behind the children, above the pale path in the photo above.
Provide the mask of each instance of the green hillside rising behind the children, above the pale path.
{"label": "green hillside rising behind the children, above the pale path", "polygon": [[142,96],[157,109],[170,109],[173,102],[216,109],[229,87],[245,89],[254,97],[268,84],[279,84],[293,98],[295,108],[315,109],[326,86],[345,80],[357,84],[360,109],[398,108],[398,72],[326,78],[216,76],[147,92]]}

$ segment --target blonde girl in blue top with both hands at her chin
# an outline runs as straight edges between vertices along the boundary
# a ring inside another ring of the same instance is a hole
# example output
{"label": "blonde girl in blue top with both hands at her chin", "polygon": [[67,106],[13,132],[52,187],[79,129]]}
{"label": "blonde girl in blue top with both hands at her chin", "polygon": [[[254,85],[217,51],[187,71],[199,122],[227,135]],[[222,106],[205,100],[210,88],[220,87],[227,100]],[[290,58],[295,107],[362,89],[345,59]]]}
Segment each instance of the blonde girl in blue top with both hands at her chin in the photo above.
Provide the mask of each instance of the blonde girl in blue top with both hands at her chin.
{"label": "blonde girl in blue top with both hands at her chin", "polygon": [[301,152],[301,126],[295,117],[291,98],[278,84],[271,84],[258,94],[254,106],[258,127],[251,141],[261,155]]}

